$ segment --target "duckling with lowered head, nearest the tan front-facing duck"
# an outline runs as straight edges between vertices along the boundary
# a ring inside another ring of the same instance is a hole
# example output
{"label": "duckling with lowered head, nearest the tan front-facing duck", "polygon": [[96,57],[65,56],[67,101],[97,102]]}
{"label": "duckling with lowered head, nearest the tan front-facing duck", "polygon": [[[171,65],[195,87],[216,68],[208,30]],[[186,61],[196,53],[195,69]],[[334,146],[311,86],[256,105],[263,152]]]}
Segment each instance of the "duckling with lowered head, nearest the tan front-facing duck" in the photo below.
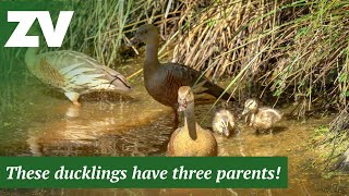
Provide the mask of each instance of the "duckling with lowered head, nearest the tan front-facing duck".
{"label": "duckling with lowered head, nearest the tan front-facing duck", "polygon": [[220,109],[214,115],[212,127],[214,132],[229,137],[237,128],[237,123],[233,114],[229,110]]}

